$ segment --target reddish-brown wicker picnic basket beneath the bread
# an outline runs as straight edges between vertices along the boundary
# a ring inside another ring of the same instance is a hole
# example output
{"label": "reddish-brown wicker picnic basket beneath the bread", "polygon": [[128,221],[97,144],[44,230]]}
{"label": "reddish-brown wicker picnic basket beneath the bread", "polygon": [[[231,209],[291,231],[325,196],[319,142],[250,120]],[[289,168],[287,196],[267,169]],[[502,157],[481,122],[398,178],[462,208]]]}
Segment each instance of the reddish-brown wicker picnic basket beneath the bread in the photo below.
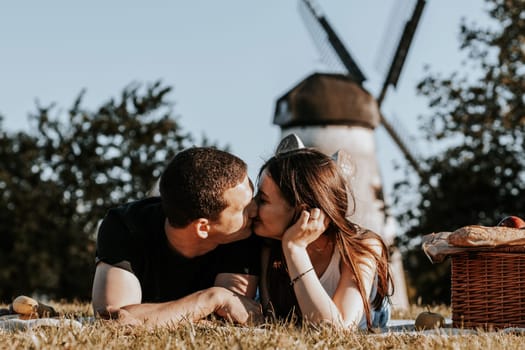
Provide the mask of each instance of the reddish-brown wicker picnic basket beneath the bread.
{"label": "reddish-brown wicker picnic basket beneath the bread", "polygon": [[452,258],[452,323],[525,327],[525,248],[469,251]]}

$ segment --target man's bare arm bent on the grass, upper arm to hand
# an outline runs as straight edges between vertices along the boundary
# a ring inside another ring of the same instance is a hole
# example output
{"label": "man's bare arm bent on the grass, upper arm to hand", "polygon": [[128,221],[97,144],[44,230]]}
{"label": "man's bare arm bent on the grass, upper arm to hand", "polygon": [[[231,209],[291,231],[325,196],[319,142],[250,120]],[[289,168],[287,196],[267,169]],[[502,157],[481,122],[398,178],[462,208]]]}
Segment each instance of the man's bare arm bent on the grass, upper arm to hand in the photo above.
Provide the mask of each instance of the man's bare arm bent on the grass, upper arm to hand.
{"label": "man's bare arm bent on the grass, upper arm to hand", "polygon": [[138,279],[131,272],[100,262],[93,282],[95,314],[112,315],[121,323],[155,326],[198,321],[214,312],[238,323],[260,320],[257,303],[222,287],[204,289],[165,303],[141,304]]}

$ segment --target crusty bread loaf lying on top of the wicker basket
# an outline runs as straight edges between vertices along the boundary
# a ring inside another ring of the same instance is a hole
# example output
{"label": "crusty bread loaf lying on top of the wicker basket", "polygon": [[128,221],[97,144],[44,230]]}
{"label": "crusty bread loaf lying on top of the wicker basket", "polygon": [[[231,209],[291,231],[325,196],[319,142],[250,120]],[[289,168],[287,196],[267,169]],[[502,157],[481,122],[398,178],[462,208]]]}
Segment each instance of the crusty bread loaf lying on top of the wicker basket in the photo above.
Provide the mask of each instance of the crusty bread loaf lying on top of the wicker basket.
{"label": "crusty bread loaf lying on top of the wicker basket", "polygon": [[448,243],[456,247],[525,245],[525,230],[504,226],[465,226],[452,232]]}

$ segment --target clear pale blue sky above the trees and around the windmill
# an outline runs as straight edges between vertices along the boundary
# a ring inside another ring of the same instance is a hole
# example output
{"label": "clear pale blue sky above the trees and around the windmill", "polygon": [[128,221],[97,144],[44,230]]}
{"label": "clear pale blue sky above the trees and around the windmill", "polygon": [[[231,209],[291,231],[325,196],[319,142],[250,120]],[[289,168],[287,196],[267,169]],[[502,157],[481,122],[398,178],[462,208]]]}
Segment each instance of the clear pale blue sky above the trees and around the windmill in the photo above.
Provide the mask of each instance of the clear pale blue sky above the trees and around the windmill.
{"label": "clear pale blue sky above the trees and around the windmill", "polygon": [[[368,77],[377,96],[387,56],[390,14],[405,0],[318,0],[326,18]],[[12,1],[0,10],[0,114],[4,128],[27,130],[35,100],[69,107],[81,89],[96,108],[132,83],[172,86],[185,131],[205,134],[247,161],[254,176],[273,152],[280,130],[274,103],[315,71],[326,71],[298,11],[297,0]],[[383,104],[417,137],[426,101],[415,85],[423,66],[460,69],[461,17],[482,22],[483,0],[428,0],[398,89]],[[392,31],[392,29],[390,29]],[[394,33],[395,34],[395,33]],[[382,50],[383,48],[383,50]],[[403,161],[385,131],[377,145],[387,193],[393,162]],[[428,145],[418,144],[428,152]]]}

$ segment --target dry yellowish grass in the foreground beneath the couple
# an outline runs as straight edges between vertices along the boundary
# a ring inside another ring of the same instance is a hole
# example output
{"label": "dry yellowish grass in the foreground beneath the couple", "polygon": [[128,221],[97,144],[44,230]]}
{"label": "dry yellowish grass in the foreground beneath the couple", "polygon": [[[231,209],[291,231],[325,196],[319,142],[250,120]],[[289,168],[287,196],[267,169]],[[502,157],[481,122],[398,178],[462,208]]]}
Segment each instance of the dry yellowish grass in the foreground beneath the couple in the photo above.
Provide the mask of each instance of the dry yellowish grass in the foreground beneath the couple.
{"label": "dry yellowish grass in the foreground beneath the couple", "polygon": [[[84,303],[50,303],[67,316],[92,316]],[[415,319],[422,311],[450,317],[446,306],[412,306],[394,312],[395,319]],[[296,328],[289,324],[269,324],[245,328],[221,321],[187,323],[176,329],[117,326],[96,320],[82,328],[38,327],[27,331],[0,331],[0,349],[518,349],[524,337],[512,333],[479,331],[452,335],[450,332],[365,334],[336,331],[330,327]]]}

